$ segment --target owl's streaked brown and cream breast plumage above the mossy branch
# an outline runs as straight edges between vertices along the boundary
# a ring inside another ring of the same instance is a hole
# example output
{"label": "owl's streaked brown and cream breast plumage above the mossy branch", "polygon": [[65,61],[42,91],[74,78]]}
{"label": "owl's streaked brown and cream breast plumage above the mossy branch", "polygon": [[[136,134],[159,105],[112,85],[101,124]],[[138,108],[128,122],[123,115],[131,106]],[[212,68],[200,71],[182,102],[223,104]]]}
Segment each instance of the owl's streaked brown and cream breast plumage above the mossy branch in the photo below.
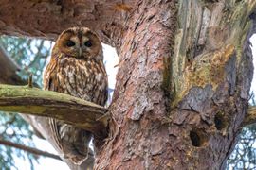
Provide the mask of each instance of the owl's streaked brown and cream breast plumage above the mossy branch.
{"label": "owl's streaked brown and cream breast plumage above the mossy branch", "polygon": [[59,60],[57,78],[61,93],[104,105],[107,75],[102,61],[65,58]]}

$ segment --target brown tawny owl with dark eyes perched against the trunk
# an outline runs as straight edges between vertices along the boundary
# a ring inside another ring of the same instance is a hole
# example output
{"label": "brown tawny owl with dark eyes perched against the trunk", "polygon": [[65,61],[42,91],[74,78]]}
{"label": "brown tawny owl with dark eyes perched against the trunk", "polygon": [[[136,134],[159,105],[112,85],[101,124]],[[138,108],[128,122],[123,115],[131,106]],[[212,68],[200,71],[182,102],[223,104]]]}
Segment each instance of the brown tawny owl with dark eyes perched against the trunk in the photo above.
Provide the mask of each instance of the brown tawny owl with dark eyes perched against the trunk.
{"label": "brown tawny owl with dark eyes perched against the trunk", "polygon": [[[101,41],[87,27],[71,27],[59,36],[44,73],[44,89],[104,106],[107,100],[107,75]],[[72,116],[72,115],[70,115]],[[64,159],[81,164],[92,150],[92,134],[79,127],[48,118],[50,142]]]}

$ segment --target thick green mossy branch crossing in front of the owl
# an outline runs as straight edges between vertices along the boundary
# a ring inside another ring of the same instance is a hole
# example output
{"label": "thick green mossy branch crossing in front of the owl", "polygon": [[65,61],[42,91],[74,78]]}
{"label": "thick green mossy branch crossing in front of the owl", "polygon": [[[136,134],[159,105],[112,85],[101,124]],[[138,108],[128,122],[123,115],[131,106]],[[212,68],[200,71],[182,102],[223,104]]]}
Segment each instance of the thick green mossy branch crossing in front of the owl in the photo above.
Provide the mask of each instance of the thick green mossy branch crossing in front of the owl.
{"label": "thick green mossy branch crossing in front of the owl", "polygon": [[52,117],[95,135],[105,133],[105,108],[64,93],[0,84],[0,110]]}

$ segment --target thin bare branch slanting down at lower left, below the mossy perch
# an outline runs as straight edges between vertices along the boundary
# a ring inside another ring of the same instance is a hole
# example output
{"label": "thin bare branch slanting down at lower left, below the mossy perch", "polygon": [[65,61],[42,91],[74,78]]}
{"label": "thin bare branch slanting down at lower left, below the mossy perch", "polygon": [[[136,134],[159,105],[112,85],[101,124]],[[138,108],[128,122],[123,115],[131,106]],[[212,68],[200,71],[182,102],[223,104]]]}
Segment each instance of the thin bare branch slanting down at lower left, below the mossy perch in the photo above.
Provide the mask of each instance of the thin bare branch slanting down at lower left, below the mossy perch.
{"label": "thin bare branch slanting down at lower left, below the mossy perch", "polygon": [[29,147],[27,145],[12,143],[10,141],[6,141],[6,140],[3,140],[1,138],[0,138],[0,144],[7,145],[7,146],[10,146],[10,147],[15,147],[17,149],[24,150],[24,151],[29,152],[29,153],[34,154],[34,155],[49,157],[49,158],[52,158],[52,159],[63,161],[58,155],[55,155],[55,154],[52,154],[52,153],[49,153],[49,152],[46,152],[46,151],[43,151],[43,150],[39,150],[39,149],[36,149],[36,148],[33,148],[33,147]]}

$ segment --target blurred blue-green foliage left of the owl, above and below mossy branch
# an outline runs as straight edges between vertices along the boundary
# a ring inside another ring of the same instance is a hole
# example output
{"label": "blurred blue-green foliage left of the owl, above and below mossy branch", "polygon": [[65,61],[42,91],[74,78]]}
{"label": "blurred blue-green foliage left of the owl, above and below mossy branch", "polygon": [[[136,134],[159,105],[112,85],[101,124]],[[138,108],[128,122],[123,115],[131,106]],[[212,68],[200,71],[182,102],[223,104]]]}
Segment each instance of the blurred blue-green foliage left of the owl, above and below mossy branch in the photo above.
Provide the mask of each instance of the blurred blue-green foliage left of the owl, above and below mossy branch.
{"label": "blurred blue-green foliage left of the owl, above and below mossy branch", "polygon": [[[13,59],[21,71],[18,73],[23,79],[29,74],[33,75],[33,81],[42,86],[42,73],[46,65],[46,59],[50,54],[52,42],[27,38],[1,36],[2,46],[9,57]],[[17,113],[7,114],[0,111],[0,141],[5,140],[15,144],[35,147],[32,140],[33,129]],[[0,144],[1,169],[20,169],[16,167],[14,157],[30,162],[30,169],[34,169],[34,162],[38,157],[21,149]]]}

